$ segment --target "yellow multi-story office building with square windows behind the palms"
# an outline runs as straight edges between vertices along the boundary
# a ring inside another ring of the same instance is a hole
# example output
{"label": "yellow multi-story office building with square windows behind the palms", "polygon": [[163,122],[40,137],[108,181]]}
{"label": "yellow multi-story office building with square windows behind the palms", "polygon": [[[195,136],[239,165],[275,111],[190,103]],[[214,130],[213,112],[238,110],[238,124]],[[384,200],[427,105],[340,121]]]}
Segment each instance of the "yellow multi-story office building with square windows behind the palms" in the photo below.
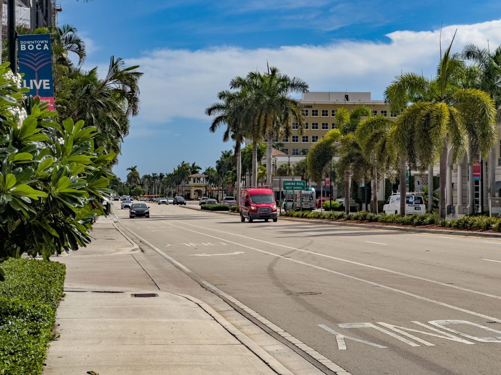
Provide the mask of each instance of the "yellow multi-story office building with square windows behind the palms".
{"label": "yellow multi-story office building with square windows behind the palms", "polygon": [[305,154],[327,131],[334,129],[334,116],[340,107],[351,111],[355,106],[363,104],[371,108],[373,114],[396,117],[384,100],[372,100],[370,92],[305,92],[299,102],[305,115],[305,133],[299,134],[299,125],[293,122],[291,136],[274,139],[283,144],[282,151],[289,155]]}

